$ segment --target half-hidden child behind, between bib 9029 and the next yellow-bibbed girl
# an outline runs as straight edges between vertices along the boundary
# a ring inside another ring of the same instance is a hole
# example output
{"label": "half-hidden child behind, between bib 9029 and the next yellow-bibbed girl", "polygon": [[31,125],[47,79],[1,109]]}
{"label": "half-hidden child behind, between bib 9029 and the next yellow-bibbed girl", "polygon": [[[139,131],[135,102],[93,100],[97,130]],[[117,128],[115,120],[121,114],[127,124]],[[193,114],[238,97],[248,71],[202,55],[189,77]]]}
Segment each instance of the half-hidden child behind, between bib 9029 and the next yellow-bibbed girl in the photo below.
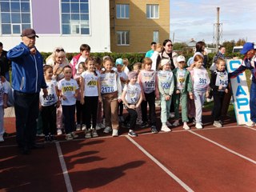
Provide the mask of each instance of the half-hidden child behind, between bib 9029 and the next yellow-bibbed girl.
{"label": "half-hidden child behind, between bib 9029 and the next yellow-bibbed girl", "polygon": [[86,120],[85,115],[83,115],[83,108],[84,106],[81,104],[81,84],[82,84],[82,73],[86,70],[85,62],[80,62],[78,65],[77,73],[74,75],[74,80],[78,82],[78,98],[75,103],[76,106],[76,116],[77,116],[77,126],[76,130],[86,130]]}

